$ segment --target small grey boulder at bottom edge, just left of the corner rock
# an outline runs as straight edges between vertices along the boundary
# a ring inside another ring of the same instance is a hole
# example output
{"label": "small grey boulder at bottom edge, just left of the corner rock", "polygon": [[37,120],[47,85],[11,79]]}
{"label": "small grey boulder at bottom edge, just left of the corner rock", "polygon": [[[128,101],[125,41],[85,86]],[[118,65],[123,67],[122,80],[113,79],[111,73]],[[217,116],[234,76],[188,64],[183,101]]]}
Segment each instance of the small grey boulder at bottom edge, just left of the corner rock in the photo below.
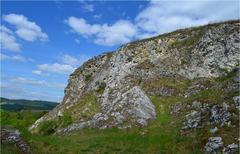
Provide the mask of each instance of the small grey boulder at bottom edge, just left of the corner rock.
{"label": "small grey boulder at bottom edge, just left of the corner rock", "polygon": [[221,137],[210,137],[207,144],[205,145],[205,153],[214,154],[223,147],[223,142]]}

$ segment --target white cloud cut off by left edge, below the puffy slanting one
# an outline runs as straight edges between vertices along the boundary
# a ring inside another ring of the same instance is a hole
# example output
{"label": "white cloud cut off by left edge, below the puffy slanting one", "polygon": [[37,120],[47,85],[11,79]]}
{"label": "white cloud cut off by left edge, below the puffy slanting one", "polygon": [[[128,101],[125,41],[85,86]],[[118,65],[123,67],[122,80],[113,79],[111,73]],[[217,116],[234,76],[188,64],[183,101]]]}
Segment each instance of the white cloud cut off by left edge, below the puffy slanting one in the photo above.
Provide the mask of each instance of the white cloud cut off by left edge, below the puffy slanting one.
{"label": "white cloud cut off by left edge, below the puffy slanting one", "polygon": [[1,48],[15,52],[20,51],[20,44],[16,42],[13,32],[3,25],[1,25],[0,30]]}

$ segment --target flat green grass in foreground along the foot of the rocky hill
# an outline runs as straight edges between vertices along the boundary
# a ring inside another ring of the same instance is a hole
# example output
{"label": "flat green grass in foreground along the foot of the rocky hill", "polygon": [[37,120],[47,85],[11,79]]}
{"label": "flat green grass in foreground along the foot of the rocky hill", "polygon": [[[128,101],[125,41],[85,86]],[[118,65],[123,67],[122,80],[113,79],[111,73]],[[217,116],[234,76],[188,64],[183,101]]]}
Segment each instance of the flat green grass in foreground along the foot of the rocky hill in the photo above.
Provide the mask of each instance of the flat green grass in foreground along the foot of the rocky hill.
{"label": "flat green grass in foreground along the foot of the rocky hill", "polygon": [[[178,98],[169,97],[166,101],[155,97],[153,102],[157,108],[157,119],[151,121],[148,127],[119,130],[111,128],[106,130],[83,129],[71,135],[30,134],[27,128],[38,117],[18,119],[17,113],[5,112],[1,117],[4,124],[20,129],[33,153],[191,153],[192,139],[179,134],[178,125],[169,114],[168,105]],[[5,116],[9,114],[11,119]],[[33,116],[31,112],[25,113]],[[39,113],[40,114],[40,113]],[[30,118],[31,119],[31,118]],[[24,122],[28,121],[28,122]],[[19,125],[19,123],[22,125]],[[25,125],[25,126],[23,126]],[[44,126],[48,130],[50,122]],[[21,127],[21,128],[20,128]],[[50,129],[51,131],[51,129]],[[189,150],[189,151],[188,151]]]}

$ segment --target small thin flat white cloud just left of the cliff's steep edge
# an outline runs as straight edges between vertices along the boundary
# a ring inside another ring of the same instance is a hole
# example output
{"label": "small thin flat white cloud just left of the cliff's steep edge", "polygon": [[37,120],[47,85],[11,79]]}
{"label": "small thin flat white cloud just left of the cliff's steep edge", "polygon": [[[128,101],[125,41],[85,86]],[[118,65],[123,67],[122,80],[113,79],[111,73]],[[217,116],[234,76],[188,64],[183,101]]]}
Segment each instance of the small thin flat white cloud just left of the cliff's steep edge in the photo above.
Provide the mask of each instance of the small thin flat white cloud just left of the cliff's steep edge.
{"label": "small thin flat white cloud just left of the cliff's steep edge", "polygon": [[38,65],[38,70],[40,71],[47,71],[51,73],[71,73],[75,69],[73,66],[68,64],[41,64]]}

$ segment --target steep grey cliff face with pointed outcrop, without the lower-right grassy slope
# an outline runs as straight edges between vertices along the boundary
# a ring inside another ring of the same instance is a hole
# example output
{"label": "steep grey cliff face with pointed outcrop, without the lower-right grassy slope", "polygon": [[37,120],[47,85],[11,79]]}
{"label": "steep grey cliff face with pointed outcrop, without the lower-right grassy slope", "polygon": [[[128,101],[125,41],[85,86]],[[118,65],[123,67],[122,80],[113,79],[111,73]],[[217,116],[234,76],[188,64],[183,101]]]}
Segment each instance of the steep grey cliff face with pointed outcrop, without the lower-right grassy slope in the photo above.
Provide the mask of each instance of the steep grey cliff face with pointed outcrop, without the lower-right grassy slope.
{"label": "steep grey cliff face with pointed outcrop, without the lower-right grassy slope", "polygon": [[[236,77],[227,83],[218,79],[236,74],[239,26],[239,21],[231,21],[178,30],[94,57],[70,75],[62,103],[30,129],[41,132],[41,125],[50,121],[57,123],[51,130],[56,133],[147,126],[158,116],[154,96],[187,99],[208,89],[224,90],[226,97],[228,92],[236,95]],[[172,112],[180,112],[182,106],[173,105]],[[199,113],[188,117],[194,116],[197,119]],[[191,120],[184,124],[184,129],[195,127]]]}

